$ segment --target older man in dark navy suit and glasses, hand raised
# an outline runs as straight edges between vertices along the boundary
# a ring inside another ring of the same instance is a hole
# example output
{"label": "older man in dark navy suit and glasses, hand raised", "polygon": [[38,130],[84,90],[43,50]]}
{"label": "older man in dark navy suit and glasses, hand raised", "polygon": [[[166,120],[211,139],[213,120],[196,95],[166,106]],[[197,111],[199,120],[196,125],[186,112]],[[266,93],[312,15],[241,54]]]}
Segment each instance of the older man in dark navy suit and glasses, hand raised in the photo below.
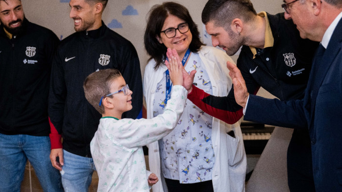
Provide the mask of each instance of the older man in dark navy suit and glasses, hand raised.
{"label": "older man in dark navy suit and glasses, hand raised", "polygon": [[227,63],[235,99],[245,120],[308,127],[316,191],[342,191],[342,0],[284,2],[285,18],[293,19],[300,37],[321,41],[304,98],[282,102],[249,95],[240,71]]}

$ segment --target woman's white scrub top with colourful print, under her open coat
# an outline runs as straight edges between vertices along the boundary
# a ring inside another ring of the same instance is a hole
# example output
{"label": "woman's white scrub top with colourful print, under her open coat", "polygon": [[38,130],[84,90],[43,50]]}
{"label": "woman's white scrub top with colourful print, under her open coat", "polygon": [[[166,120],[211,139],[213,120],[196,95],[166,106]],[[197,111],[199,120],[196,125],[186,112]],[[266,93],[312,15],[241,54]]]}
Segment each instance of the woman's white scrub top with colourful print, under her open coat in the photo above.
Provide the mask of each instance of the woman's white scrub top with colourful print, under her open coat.
{"label": "woman's white scrub top with colourful print, under her open coat", "polygon": [[[198,54],[192,53],[185,69],[196,70],[194,83],[208,94],[213,94],[208,74],[202,67]],[[163,113],[165,107],[166,77],[156,89],[153,104],[154,116]],[[214,150],[211,141],[213,117],[205,114],[187,100],[183,115],[176,128],[161,141],[162,173],[165,178],[180,183],[197,183],[212,179]]]}

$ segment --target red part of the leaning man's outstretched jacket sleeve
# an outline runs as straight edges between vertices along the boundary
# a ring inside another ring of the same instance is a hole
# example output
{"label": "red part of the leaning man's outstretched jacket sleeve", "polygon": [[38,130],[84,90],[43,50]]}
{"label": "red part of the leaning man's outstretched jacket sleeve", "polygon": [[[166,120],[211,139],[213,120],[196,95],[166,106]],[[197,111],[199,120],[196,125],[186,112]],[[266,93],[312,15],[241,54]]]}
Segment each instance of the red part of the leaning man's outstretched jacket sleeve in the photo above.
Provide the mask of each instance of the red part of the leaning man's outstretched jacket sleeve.
{"label": "red part of the leaning man's outstretched jacket sleeve", "polygon": [[203,102],[203,99],[208,96],[211,96],[211,95],[205,93],[203,90],[192,85],[192,91],[190,92],[190,94],[188,94],[188,99],[191,100],[193,104],[195,104],[205,113],[212,115],[215,118],[218,118],[228,124],[236,123],[243,116],[242,108],[237,111],[231,112],[231,111],[216,109],[210,106],[209,104]]}

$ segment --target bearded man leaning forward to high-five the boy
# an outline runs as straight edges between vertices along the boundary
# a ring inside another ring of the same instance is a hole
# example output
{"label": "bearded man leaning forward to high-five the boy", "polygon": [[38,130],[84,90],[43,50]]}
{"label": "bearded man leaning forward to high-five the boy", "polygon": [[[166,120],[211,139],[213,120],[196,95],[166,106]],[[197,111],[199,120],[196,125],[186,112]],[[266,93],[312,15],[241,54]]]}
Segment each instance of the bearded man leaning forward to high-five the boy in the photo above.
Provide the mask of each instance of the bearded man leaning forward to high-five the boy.
{"label": "bearded man leaning forward to high-five the boy", "polygon": [[[202,11],[202,22],[212,35],[213,46],[223,48],[230,56],[242,46],[236,66],[249,93],[255,95],[263,87],[280,100],[303,98],[319,44],[300,38],[296,25],[284,19],[284,13],[257,14],[250,0],[209,0]],[[191,92],[188,98],[204,112],[227,123],[241,118],[242,107],[235,102],[234,87],[228,96],[215,97],[191,83],[184,85]],[[287,173],[291,191],[315,190],[308,130],[294,130]]]}

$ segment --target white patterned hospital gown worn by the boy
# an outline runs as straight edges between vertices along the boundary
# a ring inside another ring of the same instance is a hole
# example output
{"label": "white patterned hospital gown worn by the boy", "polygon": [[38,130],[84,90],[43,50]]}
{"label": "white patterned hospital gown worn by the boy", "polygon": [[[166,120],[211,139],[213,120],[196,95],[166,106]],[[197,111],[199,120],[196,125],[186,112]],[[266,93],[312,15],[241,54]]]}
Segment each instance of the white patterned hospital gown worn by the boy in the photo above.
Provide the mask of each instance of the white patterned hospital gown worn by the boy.
{"label": "white patterned hospital gown worn by the boy", "polygon": [[142,146],[169,134],[187,100],[187,90],[173,86],[162,115],[152,119],[103,117],[90,151],[99,175],[98,192],[149,192]]}

